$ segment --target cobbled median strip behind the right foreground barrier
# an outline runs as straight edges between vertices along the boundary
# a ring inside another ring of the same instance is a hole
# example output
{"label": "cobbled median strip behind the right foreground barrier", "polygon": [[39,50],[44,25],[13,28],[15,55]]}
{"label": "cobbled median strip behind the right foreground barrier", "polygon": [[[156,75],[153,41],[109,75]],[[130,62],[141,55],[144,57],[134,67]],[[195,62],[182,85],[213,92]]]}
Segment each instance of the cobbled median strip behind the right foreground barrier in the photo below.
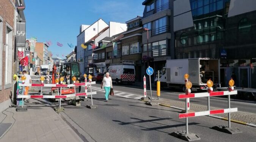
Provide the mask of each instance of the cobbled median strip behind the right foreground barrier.
{"label": "cobbled median strip behind the right foreground barrier", "polygon": [[[166,100],[166,99],[154,100],[153,99],[152,102],[161,103],[163,105],[168,105],[168,106],[172,106],[172,107],[178,107],[178,108],[185,109],[185,101],[174,101],[174,100]],[[210,110],[218,110],[218,109],[223,109],[223,108],[210,107]],[[189,112],[190,111],[191,112],[207,111],[207,106],[190,103]],[[228,114],[227,113],[215,114],[215,116],[228,117]],[[256,114],[254,114],[254,113],[245,113],[242,111],[237,111],[237,112],[231,113],[230,116],[231,116],[231,119],[233,119],[233,120],[256,124]]]}

